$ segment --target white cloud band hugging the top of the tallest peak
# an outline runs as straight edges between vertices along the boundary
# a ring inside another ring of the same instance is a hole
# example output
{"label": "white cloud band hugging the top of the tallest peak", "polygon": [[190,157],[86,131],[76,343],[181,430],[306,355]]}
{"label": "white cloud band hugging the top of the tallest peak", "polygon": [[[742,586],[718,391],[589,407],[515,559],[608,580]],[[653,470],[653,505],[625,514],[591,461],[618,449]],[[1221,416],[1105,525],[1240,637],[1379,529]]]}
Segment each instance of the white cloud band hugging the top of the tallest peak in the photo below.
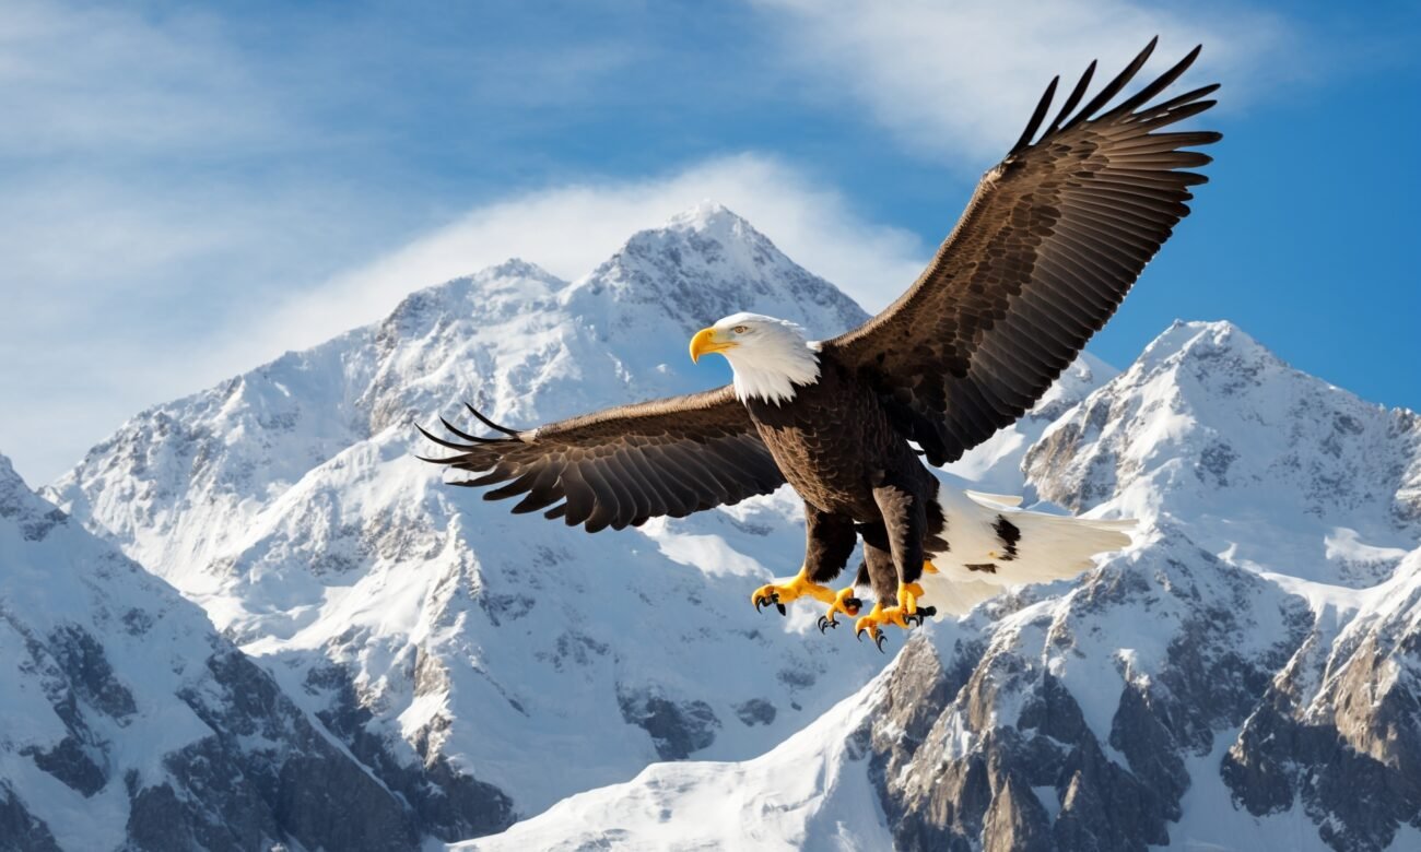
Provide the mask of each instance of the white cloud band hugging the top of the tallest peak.
{"label": "white cloud band hugging the top of the tallest peak", "polygon": [[[867,310],[907,288],[931,248],[865,222],[831,187],[776,159],[713,159],[658,179],[561,186],[477,207],[432,234],[303,293],[230,346],[252,364],[374,321],[418,287],[522,257],[563,278],[590,273],[632,233],[701,200],[720,202]],[[962,199],[965,202],[965,199]]]}

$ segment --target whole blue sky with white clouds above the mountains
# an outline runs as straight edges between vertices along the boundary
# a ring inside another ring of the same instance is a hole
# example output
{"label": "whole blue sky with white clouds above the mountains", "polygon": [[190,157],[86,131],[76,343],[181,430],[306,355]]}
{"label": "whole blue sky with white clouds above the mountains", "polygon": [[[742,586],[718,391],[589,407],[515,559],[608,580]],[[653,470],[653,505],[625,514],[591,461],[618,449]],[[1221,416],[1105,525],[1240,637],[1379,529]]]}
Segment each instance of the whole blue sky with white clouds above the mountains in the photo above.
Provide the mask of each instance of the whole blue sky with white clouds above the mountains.
{"label": "whole blue sky with white clouds above the mountains", "polygon": [[1212,183],[1091,349],[1228,318],[1421,409],[1421,4],[0,3],[0,452],[522,256],[576,277],[703,197],[870,310],[1056,72],[1223,82]]}

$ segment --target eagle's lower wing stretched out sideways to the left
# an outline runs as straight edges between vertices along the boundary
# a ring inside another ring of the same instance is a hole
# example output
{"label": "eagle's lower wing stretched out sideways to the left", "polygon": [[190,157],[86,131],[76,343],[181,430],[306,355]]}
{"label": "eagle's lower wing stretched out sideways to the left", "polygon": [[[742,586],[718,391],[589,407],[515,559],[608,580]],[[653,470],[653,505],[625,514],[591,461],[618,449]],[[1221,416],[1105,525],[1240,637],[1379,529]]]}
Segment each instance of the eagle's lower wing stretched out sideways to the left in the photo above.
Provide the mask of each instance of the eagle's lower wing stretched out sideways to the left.
{"label": "eagle's lower wing stretched out sideways to the left", "polygon": [[[769,449],[730,386],[595,412],[516,432],[469,409],[504,437],[468,435],[468,443],[425,437],[459,450],[426,459],[482,476],[456,486],[490,486],[486,500],[526,494],[514,513],[546,510],[588,532],[621,530],[658,515],[684,517],[769,494],[782,484]],[[556,506],[554,506],[556,504]],[[549,508],[551,507],[551,508]]]}

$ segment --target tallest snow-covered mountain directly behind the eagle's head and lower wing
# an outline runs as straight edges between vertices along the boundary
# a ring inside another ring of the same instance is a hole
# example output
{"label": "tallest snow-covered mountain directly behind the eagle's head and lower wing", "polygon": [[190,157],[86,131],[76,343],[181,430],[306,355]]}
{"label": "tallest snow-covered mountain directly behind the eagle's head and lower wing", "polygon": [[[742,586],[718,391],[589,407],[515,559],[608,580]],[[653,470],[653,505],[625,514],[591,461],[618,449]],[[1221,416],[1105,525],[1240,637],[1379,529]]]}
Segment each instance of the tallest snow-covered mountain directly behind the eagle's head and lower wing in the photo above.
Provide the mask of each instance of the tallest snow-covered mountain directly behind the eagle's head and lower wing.
{"label": "tallest snow-covered mountain directly behind the eagle's head and lower wing", "polygon": [[884,665],[750,606],[803,555],[789,491],[590,537],[414,457],[412,423],[463,422],[465,399],[536,423],[723,381],[685,345],[736,310],[864,320],[702,206],[574,283],[510,261],[415,293],[139,415],[48,493],[200,602],[426,832],[470,836],[509,819],[490,788],[531,815],[657,760],[746,758]]}

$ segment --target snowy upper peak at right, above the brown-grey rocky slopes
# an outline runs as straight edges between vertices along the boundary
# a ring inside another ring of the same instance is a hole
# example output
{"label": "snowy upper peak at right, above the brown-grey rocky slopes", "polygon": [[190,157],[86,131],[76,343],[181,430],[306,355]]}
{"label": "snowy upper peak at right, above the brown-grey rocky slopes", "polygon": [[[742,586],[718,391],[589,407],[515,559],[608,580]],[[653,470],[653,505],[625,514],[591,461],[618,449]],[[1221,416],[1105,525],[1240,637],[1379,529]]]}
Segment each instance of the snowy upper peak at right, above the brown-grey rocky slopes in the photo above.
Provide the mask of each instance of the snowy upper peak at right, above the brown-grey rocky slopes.
{"label": "snowy upper peak at right, above the brown-grey rocky slopes", "polygon": [[1042,497],[1187,521],[1231,562],[1333,585],[1421,540],[1421,417],[1300,373],[1229,322],[1177,322],[1025,459]]}

